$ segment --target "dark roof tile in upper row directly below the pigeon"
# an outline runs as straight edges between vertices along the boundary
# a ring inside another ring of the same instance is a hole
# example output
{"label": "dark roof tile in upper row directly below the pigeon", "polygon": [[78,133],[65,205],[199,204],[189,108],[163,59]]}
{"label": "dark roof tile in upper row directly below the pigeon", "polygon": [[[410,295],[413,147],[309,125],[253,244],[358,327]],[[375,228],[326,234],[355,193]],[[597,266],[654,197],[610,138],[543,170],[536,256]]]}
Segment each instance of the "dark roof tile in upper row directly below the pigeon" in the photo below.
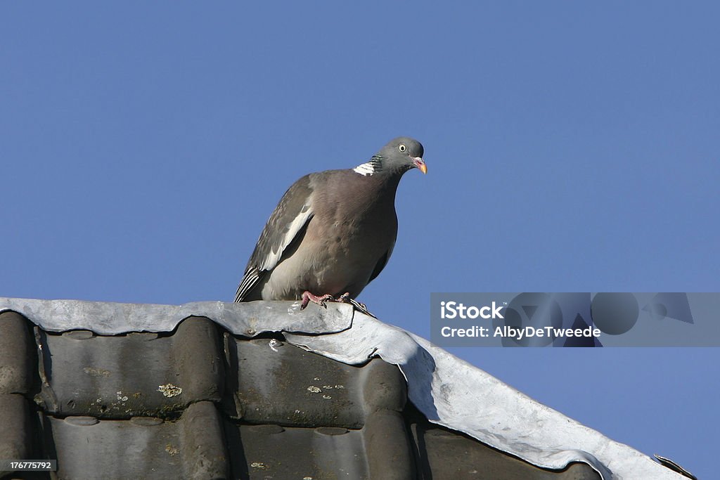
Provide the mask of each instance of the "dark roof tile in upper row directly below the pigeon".
{"label": "dark roof tile in upper row directly below the pigeon", "polygon": [[235,400],[228,410],[246,422],[359,428],[378,409],[402,410],[407,398],[400,370],[379,358],[351,366],[275,338],[232,335],[225,350]]}

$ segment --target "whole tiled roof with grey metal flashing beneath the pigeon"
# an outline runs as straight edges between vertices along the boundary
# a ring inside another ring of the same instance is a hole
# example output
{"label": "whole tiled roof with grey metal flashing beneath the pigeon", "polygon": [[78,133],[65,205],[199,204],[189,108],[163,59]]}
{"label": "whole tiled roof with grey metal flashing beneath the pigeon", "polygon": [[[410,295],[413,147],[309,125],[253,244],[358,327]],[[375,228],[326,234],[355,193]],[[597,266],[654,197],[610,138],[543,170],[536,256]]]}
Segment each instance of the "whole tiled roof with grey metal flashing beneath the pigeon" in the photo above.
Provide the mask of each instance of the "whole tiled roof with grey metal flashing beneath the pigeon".
{"label": "whole tiled roof with grey metal flashing beneath the pigeon", "polygon": [[0,458],[61,479],[682,478],[348,305],[0,312]]}

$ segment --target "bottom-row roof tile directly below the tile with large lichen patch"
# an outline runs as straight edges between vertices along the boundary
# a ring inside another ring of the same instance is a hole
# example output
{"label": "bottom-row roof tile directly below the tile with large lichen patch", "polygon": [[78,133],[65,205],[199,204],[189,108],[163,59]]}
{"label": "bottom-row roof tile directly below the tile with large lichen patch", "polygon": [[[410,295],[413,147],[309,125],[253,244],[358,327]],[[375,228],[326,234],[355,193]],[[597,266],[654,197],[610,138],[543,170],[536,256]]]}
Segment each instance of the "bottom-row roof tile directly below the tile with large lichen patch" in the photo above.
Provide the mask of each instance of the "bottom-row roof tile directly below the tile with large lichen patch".
{"label": "bottom-row roof tile directly below the tile with large lichen patch", "polygon": [[212,402],[190,405],[179,420],[44,418],[45,448],[61,479],[224,479],[229,463]]}

